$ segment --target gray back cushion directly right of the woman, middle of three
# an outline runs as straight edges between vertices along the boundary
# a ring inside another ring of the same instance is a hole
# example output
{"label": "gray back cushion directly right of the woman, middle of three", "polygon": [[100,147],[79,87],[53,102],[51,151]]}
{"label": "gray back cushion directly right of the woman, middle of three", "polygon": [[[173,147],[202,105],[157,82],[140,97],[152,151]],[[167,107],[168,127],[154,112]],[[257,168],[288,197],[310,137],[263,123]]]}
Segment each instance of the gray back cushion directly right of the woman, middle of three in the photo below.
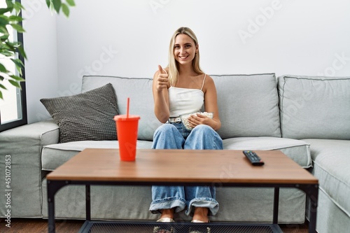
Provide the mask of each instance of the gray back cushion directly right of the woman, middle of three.
{"label": "gray back cushion directly right of the woman, middle of three", "polygon": [[214,79],[223,139],[237,136],[281,136],[279,98],[274,73],[223,75]]}

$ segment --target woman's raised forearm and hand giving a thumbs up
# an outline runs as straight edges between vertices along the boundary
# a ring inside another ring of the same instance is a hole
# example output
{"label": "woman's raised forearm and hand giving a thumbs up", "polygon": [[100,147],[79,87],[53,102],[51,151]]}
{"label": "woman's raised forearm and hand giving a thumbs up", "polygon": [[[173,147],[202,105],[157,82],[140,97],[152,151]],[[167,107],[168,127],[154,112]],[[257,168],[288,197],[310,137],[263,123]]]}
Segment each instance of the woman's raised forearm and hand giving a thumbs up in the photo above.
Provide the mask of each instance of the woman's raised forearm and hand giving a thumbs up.
{"label": "woman's raised forearm and hand giving a thumbs up", "polygon": [[153,76],[153,99],[155,117],[162,123],[169,119],[169,94],[168,94],[168,74],[158,66],[158,71]]}

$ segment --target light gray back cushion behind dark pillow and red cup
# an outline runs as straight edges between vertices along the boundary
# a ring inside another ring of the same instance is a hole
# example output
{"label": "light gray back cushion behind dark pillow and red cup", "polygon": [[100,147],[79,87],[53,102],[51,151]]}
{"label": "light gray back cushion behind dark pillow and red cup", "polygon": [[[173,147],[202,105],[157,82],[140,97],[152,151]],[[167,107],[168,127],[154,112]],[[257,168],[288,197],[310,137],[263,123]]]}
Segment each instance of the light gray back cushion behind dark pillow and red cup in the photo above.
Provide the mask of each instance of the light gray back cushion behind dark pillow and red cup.
{"label": "light gray back cushion behind dark pillow and red cup", "polygon": [[162,123],[155,118],[151,78],[121,78],[115,76],[84,76],[82,92],[111,83],[116,90],[118,110],[127,113],[130,97],[130,114],[139,115],[139,140],[153,140],[153,133]]}

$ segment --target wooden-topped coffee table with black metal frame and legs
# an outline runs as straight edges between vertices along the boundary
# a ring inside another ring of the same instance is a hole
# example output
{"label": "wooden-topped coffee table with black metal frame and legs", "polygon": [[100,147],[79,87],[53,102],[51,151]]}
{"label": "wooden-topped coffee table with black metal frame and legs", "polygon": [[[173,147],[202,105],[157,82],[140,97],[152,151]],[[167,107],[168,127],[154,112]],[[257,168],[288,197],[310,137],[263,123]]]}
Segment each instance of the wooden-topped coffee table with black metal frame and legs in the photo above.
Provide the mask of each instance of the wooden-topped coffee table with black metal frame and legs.
{"label": "wooden-topped coffee table with black metal frame and legs", "polygon": [[[80,230],[85,232],[94,224],[90,216],[90,185],[195,184],[274,188],[272,232],[281,232],[277,224],[279,188],[299,188],[311,203],[309,232],[316,232],[318,180],[279,150],[255,152],[264,160],[264,166],[252,166],[241,150],[140,149],[135,162],[121,162],[118,149],[85,149],[47,176],[48,231],[55,232],[55,194],[65,185],[85,185],[86,221]],[[215,223],[209,225],[215,227]]]}

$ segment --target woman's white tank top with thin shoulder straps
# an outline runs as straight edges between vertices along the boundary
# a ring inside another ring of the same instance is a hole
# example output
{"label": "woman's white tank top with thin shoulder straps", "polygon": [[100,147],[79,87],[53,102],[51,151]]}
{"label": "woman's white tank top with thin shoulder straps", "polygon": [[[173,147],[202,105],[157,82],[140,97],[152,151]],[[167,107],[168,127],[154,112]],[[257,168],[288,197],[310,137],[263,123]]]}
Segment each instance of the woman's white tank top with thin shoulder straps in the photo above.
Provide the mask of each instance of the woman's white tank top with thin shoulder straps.
{"label": "woman's white tank top with thin shoulder straps", "polygon": [[190,89],[181,87],[169,87],[169,111],[170,117],[195,113],[200,111],[204,104],[204,76],[201,89]]}

